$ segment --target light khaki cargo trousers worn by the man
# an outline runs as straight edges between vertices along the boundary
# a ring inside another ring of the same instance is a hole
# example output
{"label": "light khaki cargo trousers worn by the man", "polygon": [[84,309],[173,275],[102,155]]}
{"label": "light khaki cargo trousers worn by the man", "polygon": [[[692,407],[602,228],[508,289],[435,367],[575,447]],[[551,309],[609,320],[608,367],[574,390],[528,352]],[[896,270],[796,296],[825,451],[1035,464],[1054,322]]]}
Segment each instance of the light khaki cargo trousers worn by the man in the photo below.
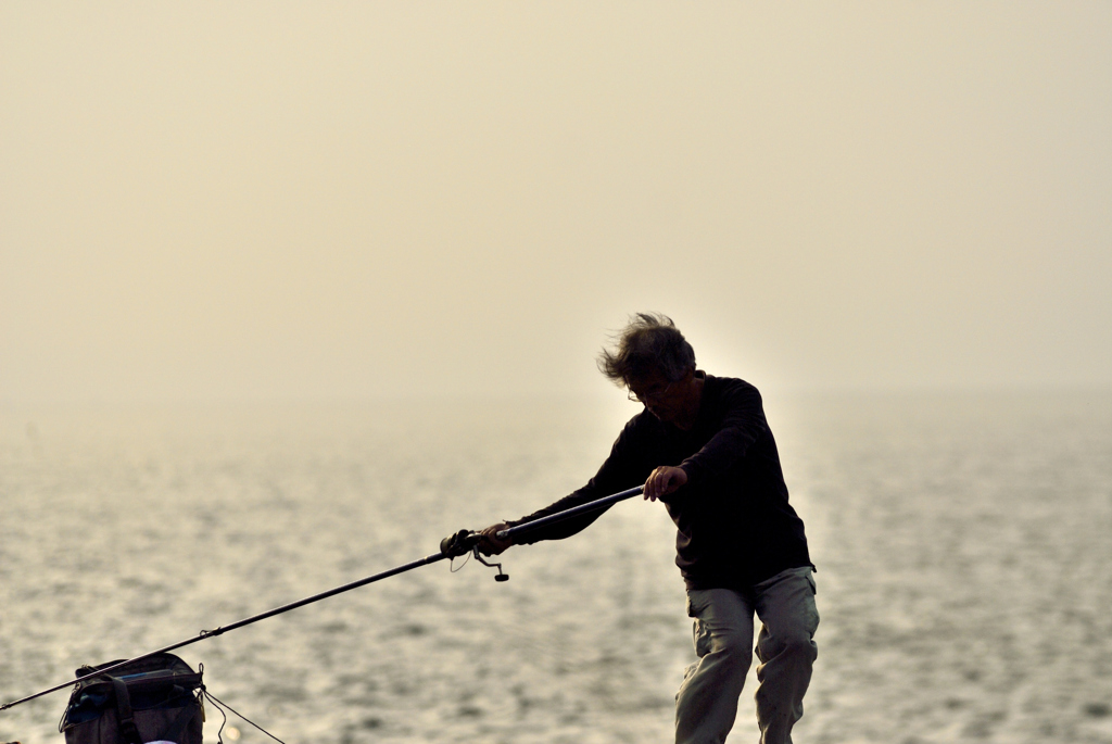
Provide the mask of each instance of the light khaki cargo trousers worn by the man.
{"label": "light khaki cargo trousers worn by the man", "polygon": [[689,589],[698,662],[687,667],[676,693],[676,744],[723,744],[737,716],[737,698],[757,637],[757,725],[762,744],[791,744],[803,716],[803,694],[818,655],[815,579],[811,566],[788,568],[752,592]]}

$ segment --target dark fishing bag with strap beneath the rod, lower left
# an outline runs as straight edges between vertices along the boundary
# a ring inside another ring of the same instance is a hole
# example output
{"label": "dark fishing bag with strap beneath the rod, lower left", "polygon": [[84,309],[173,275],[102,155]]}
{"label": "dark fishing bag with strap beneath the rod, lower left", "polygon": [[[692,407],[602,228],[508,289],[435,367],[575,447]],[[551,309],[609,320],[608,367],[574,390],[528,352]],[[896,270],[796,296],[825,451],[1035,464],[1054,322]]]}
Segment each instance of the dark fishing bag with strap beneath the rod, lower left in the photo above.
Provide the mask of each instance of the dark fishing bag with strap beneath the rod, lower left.
{"label": "dark fishing bag with strap beneath the rod, lower left", "polygon": [[[77,676],[115,664],[82,666]],[[78,683],[58,730],[66,744],[201,744],[203,690],[200,672],[156,654]]]}

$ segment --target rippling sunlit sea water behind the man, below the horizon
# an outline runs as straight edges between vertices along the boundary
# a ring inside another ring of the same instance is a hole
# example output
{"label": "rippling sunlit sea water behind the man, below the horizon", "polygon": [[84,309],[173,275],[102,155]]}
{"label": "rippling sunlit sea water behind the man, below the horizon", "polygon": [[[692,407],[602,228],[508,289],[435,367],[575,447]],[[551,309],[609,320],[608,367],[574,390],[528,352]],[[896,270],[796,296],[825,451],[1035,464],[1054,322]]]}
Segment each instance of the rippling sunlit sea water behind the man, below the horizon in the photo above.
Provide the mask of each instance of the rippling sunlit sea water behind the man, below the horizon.
{"label": "rippling sunlit sea water behind the man, below the horizon", "polygon": [[[1112,743],[1112,396],[767,401],[818,565],[803,743]],[[436,552],[594,473],[629,407],[0,408],[0,698]],[[285,742],[668,742],[663,507],[181,649]],[[756,740],[743,694],[732,744]],[[0,713],[60,742],[66,692]],[[220,716],[208,708],[206,741]],[[269,741],[232,716],[226,742]]]}

